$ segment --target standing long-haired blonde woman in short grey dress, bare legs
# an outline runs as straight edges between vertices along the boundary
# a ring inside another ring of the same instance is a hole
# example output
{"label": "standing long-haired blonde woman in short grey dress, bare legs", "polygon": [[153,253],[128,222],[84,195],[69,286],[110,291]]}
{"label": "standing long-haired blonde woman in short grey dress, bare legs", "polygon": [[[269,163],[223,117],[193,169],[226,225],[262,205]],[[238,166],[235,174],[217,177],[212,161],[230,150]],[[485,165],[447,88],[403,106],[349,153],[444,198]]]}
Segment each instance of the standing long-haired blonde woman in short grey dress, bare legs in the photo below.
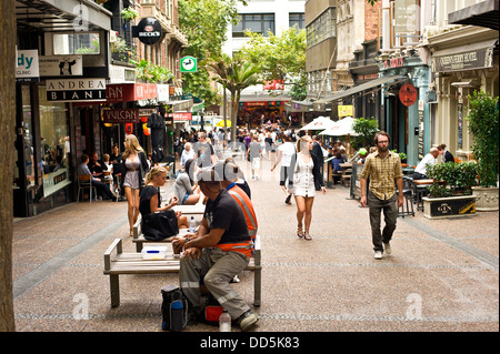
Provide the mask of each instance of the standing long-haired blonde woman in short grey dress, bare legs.
{"label": "standing long-haired blonde woman in short grey dress, bare legs", "polygon": [[146,153],[136,135],[126,135],[123,145],[121,188],[127,196],[130,235],[132,235],[133,224],[139,216],[139,191],[144,185],[143,179],[149,170],[149,165]]}

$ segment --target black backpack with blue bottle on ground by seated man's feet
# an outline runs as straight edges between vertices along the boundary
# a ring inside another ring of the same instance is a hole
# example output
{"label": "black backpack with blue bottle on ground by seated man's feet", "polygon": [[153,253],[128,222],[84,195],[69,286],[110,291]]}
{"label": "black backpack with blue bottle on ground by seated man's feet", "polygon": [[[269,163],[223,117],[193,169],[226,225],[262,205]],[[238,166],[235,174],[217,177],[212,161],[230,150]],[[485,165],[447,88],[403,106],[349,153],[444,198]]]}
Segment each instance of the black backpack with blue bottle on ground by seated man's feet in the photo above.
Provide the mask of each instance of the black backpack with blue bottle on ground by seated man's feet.
{"label": "black backpack with blue bottle on ground by seated man's feet", "polygon": [[161,289],[161,328],[180,332],[188,323],[188,300],[177,285],[166,285]]}

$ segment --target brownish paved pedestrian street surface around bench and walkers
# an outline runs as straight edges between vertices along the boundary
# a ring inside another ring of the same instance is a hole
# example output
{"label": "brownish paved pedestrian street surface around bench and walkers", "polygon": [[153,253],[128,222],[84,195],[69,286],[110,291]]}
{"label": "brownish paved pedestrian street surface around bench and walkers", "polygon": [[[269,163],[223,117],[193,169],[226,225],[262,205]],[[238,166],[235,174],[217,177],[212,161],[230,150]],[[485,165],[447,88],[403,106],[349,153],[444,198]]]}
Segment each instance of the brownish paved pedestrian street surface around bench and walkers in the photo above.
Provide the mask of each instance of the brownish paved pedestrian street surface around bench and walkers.
{"label": "brownish paved pedestrian street surface around bench and walkers", "polygon": [[[243,166],[250,180],[246,162]],[[337,185],[317,192],[312,241],[296,235],[279,170],[249,181],[262,241],[262,304],[254,332],[498,332],[499,212],[398,219],[392,254],[373,259],[368,209]],[[172,184],[164,186],[171,195]],[[177,274],[121,275],[110,305],[103,253],[133,252],[126,202],[71,203],[13,225],[13,295],[20,332],[162,332],[161,294]],[[249,304],[253,275],[233,284]],[[217,332],[199,324],[184,332]],[[239,331],[239,328],[233,328]]]}

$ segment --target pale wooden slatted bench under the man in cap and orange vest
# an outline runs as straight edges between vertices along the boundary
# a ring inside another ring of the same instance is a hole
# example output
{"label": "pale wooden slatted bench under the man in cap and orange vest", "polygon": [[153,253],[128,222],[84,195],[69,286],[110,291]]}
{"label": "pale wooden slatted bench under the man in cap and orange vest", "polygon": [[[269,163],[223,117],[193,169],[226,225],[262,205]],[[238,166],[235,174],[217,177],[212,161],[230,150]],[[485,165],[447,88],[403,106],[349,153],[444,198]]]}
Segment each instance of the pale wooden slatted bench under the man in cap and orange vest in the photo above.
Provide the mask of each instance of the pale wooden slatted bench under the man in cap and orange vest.
{"label": "pale wooden slatted bench under the man in cap and orange vest", "polygon": [[[261,245],[259,235],[256,236],[256,247],[246,270],[253,271],[253,305],[261,302]],[[164,260],[143,260],[141,253],[124,253],[122,240],[116,239],[104,252],[104,274],[110,276],[111,306],[120,305],[120,274],[164,274],[179,273],[180,259],[173,253],[167,254]]]}

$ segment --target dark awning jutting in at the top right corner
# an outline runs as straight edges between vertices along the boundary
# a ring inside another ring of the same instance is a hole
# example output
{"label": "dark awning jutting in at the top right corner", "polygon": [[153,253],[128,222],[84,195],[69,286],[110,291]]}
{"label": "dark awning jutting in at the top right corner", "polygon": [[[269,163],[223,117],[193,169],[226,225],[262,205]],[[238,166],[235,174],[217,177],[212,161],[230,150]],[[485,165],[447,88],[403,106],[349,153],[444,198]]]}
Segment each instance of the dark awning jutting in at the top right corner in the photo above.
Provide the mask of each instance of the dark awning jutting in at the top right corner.
{"label": "dark awning jutting in at the top right corner", "polygon": [[486,0],[464,9],[450,12],[448,22],[471,24],[499,30],[499,0]]}

